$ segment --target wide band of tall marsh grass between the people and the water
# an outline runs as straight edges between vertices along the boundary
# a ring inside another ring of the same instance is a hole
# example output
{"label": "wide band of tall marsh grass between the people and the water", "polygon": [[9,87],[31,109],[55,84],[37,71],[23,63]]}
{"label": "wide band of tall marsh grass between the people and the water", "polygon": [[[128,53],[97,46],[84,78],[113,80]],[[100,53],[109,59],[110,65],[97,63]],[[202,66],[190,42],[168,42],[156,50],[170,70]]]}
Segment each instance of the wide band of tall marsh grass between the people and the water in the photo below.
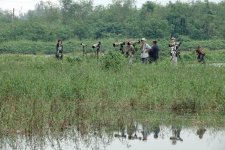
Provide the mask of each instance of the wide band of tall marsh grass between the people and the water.
{"label": "wide band of tall marsh grass between the people and the water", "polygon": [[101,63],[94,57],[1,55],[1,132],[45,134],[77,122],[82,130],[93,122],[110,125],[121,115],[122,120],[139,115],[131,112],[225,114],[223,67],[160,61],[115,71]]}

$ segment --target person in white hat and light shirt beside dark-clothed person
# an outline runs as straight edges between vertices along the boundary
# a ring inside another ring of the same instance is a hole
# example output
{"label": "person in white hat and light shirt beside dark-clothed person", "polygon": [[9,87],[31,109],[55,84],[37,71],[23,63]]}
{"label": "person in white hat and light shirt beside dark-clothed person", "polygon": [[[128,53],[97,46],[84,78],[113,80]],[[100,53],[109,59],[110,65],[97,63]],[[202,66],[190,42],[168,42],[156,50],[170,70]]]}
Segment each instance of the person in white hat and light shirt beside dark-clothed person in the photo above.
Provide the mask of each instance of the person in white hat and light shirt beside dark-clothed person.
{"label": "person in white hat and light shirt beside dark-clothed person", "polygon": [[151,46],[149,46],[146,42],[145,38],[141,39],[141,62],[147,63],[149,60],[149,51]]}

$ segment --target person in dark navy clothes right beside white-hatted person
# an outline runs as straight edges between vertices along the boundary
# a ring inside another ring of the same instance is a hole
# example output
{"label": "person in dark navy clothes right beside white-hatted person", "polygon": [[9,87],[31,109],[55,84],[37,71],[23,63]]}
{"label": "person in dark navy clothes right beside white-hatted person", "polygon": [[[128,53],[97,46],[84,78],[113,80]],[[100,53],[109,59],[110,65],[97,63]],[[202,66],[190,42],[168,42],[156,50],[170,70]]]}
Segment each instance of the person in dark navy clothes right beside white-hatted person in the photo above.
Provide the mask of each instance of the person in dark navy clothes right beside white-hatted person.
{"label": "person in dark navy clothes right beside white-hatted person", "polygon": [[157,62],[158,58],[159,58],[159,47],[157,45],[157,41],[154,40],[152,42],[152,47],[149,51],[149,61],[150,63]]}

